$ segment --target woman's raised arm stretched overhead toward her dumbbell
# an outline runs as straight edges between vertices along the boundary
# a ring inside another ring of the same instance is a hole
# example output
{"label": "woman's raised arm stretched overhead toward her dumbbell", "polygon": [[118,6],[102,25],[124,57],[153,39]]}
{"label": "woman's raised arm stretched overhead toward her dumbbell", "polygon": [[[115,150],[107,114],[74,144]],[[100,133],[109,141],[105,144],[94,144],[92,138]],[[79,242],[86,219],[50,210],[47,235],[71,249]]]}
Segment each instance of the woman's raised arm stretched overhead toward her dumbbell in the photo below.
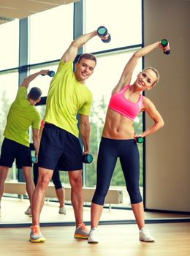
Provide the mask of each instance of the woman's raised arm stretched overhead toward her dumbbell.
{"label": "woman's raised arm stretched overhead toward her dumbbell", "polygon": [[131,59],[129,59],[126,66],[124,67],[121,78],[118,81],[117,86],[115,86],[115,88],[113,89],[112,94],[117,93],[118,91],[123,89],[123,86],[131,83],[132,73],[134,71],[134,68],[137,66],[138,60],[158,47],[163,49],[163,47],[161,46],[161,42],[155,42],[151,45],[147,45],[144,48],[137,50],[132,55]]}

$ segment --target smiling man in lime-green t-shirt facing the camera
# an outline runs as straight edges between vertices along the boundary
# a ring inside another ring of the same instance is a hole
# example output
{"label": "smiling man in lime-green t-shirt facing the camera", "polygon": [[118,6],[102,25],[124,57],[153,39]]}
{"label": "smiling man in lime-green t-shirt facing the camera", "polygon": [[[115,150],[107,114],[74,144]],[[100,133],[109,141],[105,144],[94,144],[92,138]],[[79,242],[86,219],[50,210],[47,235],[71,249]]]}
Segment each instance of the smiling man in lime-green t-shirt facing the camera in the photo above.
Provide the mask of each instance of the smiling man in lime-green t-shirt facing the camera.
{"label": "smiling man in lime-green t-shirt facing the camera", "polygon": [[[75,238],[87,239],[89,231],[83,224],[82,155],[89,153],[89,114],[92,104],[91,91],[85,85],[96,66],[96,58],[88,53],[77,61],[75,72],[72,64],[77,50],[88,40],[97,36],[97,31],[77,37],[62,56],[56,75],[47,94],[45,127],[39,147],[39,178],[32,197],[32,226],[30,241],[45,241],[39,229],[39,215],[45,200],[45,190],[58,165],[66,170],[71,185],[71,200],[75,212]],[[79,131],[77,128],[79,114]],[[78,135],[83,141],[83,152]]]}

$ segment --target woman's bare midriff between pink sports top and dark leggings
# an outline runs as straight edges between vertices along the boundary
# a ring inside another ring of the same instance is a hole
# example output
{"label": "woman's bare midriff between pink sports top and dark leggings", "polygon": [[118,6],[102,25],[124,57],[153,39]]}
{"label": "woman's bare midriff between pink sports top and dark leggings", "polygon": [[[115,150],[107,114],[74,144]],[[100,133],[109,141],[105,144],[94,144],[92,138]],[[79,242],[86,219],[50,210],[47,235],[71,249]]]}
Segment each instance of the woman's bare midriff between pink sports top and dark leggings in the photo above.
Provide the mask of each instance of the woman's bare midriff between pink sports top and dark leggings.
{"label": "woman's bare midriff between pink sports top and dark leggings", "polygon": [[108,108],[102,137],[115,140],[133,139],[133,121]]}

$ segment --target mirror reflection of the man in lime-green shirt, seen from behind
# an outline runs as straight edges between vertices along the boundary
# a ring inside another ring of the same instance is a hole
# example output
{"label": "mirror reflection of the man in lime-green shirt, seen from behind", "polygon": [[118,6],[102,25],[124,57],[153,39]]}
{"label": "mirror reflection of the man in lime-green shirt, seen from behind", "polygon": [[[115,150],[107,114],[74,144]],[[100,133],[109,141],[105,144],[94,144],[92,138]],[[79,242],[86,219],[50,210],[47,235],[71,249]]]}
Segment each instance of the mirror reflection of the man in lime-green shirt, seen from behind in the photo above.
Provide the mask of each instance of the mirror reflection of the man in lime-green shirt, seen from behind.
{"label": "mirror reflection of the man in lime-green shirt, seen from behind", "polygon": [[32,128],[32,138],[36,155],[39,151],[39,126],[40,115],[34,105],[40,101],[42,91],[33,87],[27,95],[29,83],[38,75],[47,75],[49,70],[41,70],[29,75],[23,80],[18,89],[15,101],[12,103],[7,116],[7,124],[4,129],[4,141],[1,146],[0,158],[0,215],[1,197],[4,192],[4,181],[7,178],[9,167],[16,159],[18,168],[23,169],[26,180],[26,191],[31,201],[34,192],[34,182],[31,177],[31,151],[29,148],[28,128]]}

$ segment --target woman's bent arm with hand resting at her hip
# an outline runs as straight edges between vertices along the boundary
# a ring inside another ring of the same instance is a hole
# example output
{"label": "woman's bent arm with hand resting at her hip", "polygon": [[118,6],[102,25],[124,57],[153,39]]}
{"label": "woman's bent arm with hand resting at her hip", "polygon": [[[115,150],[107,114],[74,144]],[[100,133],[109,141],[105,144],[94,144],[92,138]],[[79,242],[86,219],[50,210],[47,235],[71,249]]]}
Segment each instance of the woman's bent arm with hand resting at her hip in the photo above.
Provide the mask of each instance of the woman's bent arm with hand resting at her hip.
{"label": "woman's bent arm with hand resting at her hip", "polygon": [[145,110],[145,112],[148,113],[148,116],[150,116],[154,122],[151,127],[145,130],[145,132],[142,132],[141,135],[137,135],[137,136],[145,137],[147,135],[151,135],[153,132],[156,132],[161,127],[164,127],[164,120],[162,119],[159,111],[156,110],[155,105],[153,105],[153,102],[151,102],[150,99],[144,97],[143,105],[144,105],[143,110]]}

